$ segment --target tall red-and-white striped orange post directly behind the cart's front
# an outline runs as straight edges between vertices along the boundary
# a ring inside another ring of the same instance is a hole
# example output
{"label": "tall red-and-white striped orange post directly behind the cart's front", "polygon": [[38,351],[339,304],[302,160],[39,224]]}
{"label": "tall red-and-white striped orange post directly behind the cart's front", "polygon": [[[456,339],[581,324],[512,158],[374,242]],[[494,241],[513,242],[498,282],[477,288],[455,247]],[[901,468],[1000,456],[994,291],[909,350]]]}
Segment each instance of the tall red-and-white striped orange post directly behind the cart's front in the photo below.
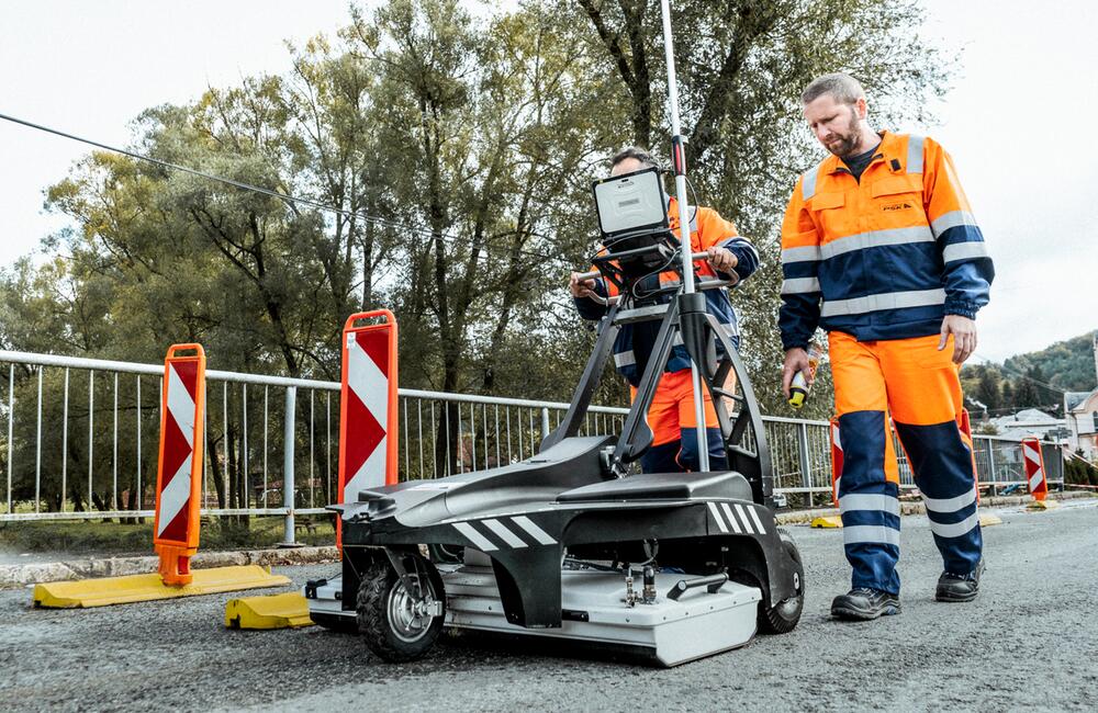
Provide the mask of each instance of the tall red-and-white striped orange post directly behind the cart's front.
{"label": "tall red-and-white striped orange post directly behind the cart's front", "polygon": [[[337,502],[348,502],[362,489],[396,483],[396,317],[388,309],[351,315],[341,351]],[[343,545],[338,520],[336,544]]]}

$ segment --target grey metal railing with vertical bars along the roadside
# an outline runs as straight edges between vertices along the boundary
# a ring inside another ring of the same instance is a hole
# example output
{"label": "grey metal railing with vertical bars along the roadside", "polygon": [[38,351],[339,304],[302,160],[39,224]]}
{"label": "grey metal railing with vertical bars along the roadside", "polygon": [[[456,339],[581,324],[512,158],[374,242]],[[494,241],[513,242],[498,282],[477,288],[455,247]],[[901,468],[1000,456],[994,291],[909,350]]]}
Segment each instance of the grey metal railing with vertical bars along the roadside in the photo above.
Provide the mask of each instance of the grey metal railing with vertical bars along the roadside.
{"label": "grey metal railing with vertical bars along the roadside", "polygon": [[[0,363],[8,364],[7,384],[0,381],[8,426],[0,443],[7,480],[0,522],[153,517],[163,365],[12,351],[0,351]],[[568,409],[558,401],[415,389],[399,395],[402,479],[520,461]],[[627,412],[592,407],[581,432],[617,432]],[[336,500],[338,415],[336,382],[208,371],[203,514],[281,516],[293,542],[294,516],[326,513],[324,506]],[[829,502],[829,425],[763,422],[775,488],[809,506]],[[978,435],[974,445],[983,483],[1024,484],[1018,441]],[[281,464],[272,465],[279,453]],[[898,444],[897,453],[901,485],[915,487]],[[1046,459],[1049,480],[1062,483],[1055,453]]]}

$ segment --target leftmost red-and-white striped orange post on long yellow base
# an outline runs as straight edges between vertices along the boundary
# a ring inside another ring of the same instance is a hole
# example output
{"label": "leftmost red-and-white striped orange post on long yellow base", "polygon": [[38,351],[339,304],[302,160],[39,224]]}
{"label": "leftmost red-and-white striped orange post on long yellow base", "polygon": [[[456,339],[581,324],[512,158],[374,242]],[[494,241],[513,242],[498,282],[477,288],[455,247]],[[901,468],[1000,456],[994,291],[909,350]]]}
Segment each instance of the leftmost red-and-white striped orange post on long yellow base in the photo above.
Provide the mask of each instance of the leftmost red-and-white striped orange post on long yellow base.
{"label": "leftmost red-and-white striped orange post on long yellow base", "polygon": [[[188,356],[178,352],[194,351]],[[190,558],[199,547],[202,496],[202,427],[205,412],[205,351],[172,344],[164,360],[160,452],[156,474],[153,543],[165,585],[189,585]]]}

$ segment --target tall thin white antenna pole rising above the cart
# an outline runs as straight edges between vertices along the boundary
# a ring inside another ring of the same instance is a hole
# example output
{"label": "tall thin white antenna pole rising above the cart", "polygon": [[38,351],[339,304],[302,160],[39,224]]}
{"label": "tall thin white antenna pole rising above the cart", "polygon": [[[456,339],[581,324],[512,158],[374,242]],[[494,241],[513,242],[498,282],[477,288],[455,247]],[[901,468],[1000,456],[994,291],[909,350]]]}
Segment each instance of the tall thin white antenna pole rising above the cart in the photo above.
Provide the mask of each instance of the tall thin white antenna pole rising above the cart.
{"label": "tall thin white antenna pole rising above the cart", "polygon": [[[690,244],[690,208],[686,205],[686,147],[679,121],[679,80],[675,79],[675,46],[671,38],[671,1],[661,0],[663,11],[663,47],[668,55],[668,89],[671,104],[671,162],[675,171],[675,197],[679,201],[679,235],[683,258],[683,294],[694,293],[693,248]],[[691,382],[694,387],[694,421],[697,423],[697,452],[702,471],[709,469],[709,439],[705,432],[705,405],[702,397],[702,374],[691,360]]]}

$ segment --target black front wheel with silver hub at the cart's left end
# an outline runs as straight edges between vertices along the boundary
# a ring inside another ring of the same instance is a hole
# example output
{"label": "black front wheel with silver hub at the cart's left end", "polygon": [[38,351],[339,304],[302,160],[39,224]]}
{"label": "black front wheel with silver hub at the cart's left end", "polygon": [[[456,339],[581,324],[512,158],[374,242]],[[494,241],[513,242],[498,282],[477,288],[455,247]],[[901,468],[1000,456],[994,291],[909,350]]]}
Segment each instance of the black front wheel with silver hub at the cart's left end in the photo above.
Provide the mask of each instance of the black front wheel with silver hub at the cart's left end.
{"label": "black front wheel with silver hub at the cart's left end", "polygon": [[418,554],[404,556],[404,567],[424,602],[441,601],[444,611],[432,616],[417,606],[396,571],[389,565],[372,565],[358,587],[358,631],[367,647],[382,659],[400,664],[426,654],[442,631],[446,599],[438,570]]}

